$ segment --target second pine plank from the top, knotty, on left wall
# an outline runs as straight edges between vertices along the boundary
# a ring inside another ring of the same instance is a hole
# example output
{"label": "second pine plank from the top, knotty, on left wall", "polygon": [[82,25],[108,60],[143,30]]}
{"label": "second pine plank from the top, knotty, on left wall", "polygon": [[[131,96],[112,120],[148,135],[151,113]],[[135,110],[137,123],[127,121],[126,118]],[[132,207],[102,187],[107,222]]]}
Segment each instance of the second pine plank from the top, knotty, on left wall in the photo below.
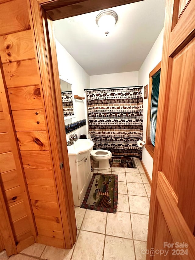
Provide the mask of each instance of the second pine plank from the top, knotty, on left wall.
{"label": "second pine plank from the top, knotty, on left wall", "polygon": [[2,63],[34,59],[34,45],[31,30],[0,36]]}

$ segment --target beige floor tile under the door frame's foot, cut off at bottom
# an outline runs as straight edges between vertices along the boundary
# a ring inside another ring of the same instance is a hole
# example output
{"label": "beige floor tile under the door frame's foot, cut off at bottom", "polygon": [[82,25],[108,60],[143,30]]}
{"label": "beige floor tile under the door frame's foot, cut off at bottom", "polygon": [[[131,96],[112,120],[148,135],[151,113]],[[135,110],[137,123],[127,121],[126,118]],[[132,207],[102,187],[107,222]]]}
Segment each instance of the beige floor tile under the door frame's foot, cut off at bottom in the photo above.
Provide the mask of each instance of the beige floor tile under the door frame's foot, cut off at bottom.
{"label": "beige floor tile under the door frame's foot, cut off at bottom", "polygon": [[47,259],[47,260],[70,260],[73,249],[62,249],[62,248],[55,248],[46,246],[45,250],[43,251],[43,254],[41,255],[41,259]]}

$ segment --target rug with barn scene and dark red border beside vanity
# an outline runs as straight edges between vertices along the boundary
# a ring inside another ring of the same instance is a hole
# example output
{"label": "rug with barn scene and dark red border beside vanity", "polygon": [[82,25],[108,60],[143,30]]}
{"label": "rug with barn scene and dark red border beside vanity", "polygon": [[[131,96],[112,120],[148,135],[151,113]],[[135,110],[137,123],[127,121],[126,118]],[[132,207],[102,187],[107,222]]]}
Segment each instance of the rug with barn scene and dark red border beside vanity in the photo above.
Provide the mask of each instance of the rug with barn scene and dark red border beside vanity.
{"label": "rug with barn scene and dark red border beside vanity", "polygon": [[114,213],[118,201],[118,175],[94,173],[81,208]]}

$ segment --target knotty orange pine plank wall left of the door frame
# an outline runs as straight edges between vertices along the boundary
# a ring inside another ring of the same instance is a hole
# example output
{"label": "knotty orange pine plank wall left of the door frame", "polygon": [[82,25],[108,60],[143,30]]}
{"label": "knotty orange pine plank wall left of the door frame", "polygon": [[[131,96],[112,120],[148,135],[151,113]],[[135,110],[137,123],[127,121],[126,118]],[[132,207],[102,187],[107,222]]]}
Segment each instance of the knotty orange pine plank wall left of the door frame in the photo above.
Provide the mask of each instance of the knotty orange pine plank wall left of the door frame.
{"label": "knotty orange pine plank wall left of the door frame", "polygon": [[[21,4],[22,2],[22,4]],[[7,19],[9,17],[9,19]],[[37,241],[65,247],[47,121],[26,0],[0,2],[0,57]],[[9,162],[9,163],[8,163]],[[15,240],[32,236],[0,102],[0,173]],[[33,241],[29,241],[29,244]],[[22,248],[18,248],[20,251]]]}

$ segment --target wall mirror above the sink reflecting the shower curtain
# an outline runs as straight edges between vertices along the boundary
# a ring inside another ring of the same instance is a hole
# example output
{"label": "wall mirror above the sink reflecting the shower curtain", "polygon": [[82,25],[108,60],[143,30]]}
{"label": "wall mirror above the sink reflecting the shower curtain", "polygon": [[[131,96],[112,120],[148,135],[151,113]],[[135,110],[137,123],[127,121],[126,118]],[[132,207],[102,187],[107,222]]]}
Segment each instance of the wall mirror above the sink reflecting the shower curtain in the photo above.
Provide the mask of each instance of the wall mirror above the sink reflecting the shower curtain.
{"label": "wall mirror above the sink reflecting the shower curtain", "polygon": [[72,85],[65,80],[60,79],[62,106],[64,112],[64,119],[70,119],[74,117],[73,109],[73,95]]}

